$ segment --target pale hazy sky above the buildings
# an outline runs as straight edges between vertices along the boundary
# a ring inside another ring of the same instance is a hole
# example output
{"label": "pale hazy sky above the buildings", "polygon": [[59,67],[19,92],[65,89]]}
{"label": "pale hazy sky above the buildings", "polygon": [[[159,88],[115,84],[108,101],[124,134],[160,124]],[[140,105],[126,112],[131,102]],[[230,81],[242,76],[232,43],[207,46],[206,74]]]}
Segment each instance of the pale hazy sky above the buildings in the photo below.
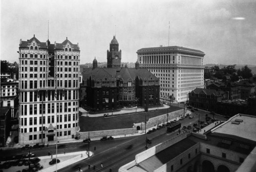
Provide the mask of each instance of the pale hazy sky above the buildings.
{"label": "pale hazy sky above the buildings", "polygon": [[116,35],[122,62],[137,50],[181,46],[204,64],[256,65],[255,0],[1,0],[1,60],[18,62],[19,40],[79,43],[80,64],[106,61]]}

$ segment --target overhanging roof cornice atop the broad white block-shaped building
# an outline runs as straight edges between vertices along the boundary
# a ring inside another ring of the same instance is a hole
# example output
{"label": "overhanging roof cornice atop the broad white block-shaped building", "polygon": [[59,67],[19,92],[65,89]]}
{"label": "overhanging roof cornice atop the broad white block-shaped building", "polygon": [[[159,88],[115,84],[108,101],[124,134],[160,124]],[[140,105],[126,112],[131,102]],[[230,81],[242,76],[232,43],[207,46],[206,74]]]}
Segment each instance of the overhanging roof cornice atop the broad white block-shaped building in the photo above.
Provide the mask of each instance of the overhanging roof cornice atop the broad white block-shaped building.
{"label": "overhanging roof cornice atop the broad white block-shaped building", "polygon": [[139,49],[137,53],[143,52],[143,51],[183,51],[183,52],[190,52],[190,53],[194,52],[194,53],[204,54],[204,52],[200,50],[189,49],[189,48],[178,47],[178,46],[142,48],[142,49]]}

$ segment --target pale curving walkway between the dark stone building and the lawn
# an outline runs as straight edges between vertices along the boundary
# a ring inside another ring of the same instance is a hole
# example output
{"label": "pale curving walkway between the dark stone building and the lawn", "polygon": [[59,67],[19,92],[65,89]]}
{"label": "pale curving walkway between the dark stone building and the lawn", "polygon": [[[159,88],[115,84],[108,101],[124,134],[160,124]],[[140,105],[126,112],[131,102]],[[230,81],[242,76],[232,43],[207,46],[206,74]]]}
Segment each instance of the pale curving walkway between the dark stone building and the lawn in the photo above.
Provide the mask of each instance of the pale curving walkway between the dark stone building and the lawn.
{"label": "pale curving walkway between the dark stone building and the lawn", "polygon": [[[148,111],[154,111],[158,109],[167,109],[170,106],[163,104],[163,106],[158,106],[158,107],[150,107],[148,108]],[[87,116],[87,117],[100,117],[104,116],[104,114],[108,114],[108,116],[113,115],[123,115],[123,114],[130,114],[130,113],[135,113],[135,112],[145,112],[144,108],[141,107],[131,107],[131,108],[126,108],[122,109],[121,111],[113,111],[113,113],[100,113],[100,114],[87,114],[87,115],[82,115],[82,116]]]}

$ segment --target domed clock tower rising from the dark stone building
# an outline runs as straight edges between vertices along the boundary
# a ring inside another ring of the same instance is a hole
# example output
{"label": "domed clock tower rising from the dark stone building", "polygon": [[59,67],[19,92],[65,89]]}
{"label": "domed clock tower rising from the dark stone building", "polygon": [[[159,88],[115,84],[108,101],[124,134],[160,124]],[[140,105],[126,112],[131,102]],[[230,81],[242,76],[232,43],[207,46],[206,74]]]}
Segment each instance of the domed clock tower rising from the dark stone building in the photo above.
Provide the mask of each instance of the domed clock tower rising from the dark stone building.
{"label": "domed clock tower rising from the dark stone building", "polygon": [[121,50],[118,50],[119,44],[116,36],[110,42],[110,50],[106,52],[107,55],[107,68],[120,68],[121,67]]}

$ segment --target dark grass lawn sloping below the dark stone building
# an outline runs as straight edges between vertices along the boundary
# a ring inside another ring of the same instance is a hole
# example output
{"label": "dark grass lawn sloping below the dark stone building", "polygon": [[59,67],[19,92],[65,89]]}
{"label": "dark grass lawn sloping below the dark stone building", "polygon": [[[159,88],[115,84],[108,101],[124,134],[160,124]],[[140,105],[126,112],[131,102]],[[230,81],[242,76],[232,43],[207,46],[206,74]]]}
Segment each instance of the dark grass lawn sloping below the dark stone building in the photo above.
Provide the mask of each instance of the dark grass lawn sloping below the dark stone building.
{"label": "dark grass lawn sloping below the dark stone building", "polygon": [[[174,112],[182,109],[181,107],[171,106],[168,112]],[[167,109],[149,111],[149,112],[139,112],[129,115],[121,115],[115,117],[84,117],[80,116],[79,126],[80,132],[89,132],[89,131],[101,131],[101,130],[114,130],[120,128],[132,128],[133,123],[139,123],[148,121],[149,118],[153,118],[159,115],[167,113]]]}

